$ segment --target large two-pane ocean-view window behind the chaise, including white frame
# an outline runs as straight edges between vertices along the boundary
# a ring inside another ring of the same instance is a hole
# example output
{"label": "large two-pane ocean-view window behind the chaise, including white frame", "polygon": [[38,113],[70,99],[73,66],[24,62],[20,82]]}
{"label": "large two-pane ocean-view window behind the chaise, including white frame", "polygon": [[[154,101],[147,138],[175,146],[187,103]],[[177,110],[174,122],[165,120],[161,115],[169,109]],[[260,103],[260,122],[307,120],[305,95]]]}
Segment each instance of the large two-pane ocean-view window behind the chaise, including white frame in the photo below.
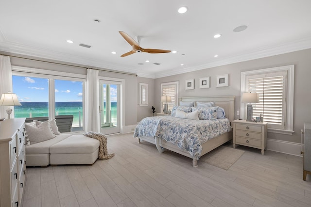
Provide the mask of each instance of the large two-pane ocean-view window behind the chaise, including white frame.
{"label": "large two-pane ocean-view window behind the chaise, including white frame", "polygon": [[73,115],[72,131],[83,130],[85,75],[12,66],[13,89],[22,106],[15,117]]}

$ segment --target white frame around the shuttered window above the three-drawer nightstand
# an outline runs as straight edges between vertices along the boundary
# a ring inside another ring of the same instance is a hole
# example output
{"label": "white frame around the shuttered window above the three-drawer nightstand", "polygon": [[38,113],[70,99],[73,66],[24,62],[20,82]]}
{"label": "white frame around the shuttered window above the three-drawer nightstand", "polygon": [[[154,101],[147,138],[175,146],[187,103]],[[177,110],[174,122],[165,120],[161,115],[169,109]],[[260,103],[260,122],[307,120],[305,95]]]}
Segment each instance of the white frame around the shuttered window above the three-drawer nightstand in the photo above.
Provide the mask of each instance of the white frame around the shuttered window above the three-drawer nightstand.
{"label": "white frame around the shuttered window above the three-drawer nightstand", "polygon": [[[247,76],[262,75],[266,73],[284,72],[287,73],[286,82],[286,109],[285,109],[285,129],[269,128],[268,132],[274,132],[279,134],[293,135],[294,133],[294,65],[286,65],[273,68],[265,68],[259,70],[245,71],[241,73],[241,97],[243,93],[246,93],[246,78]],[[246,117],[246,104],[240,103],[241,118]]]}

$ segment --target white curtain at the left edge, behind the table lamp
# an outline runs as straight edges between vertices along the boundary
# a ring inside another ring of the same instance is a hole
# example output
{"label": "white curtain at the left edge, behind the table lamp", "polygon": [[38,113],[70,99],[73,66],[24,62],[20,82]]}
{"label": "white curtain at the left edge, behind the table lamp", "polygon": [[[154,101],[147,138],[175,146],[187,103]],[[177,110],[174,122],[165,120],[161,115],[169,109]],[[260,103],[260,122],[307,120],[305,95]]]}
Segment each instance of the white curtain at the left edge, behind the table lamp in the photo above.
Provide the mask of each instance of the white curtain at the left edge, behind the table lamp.
{"label": "white curtain at the left edge, behind the table lamp", "polygon": [[[12,68],[9,56],[0,55],[0,97],[3,93],[13,92],[12,86]],[[8,118],[5,109],[7,106],[0,106],[0,118]],[[12,107],[11,107],[12,108]],[[11,118],[14,117],[12,112]]]}

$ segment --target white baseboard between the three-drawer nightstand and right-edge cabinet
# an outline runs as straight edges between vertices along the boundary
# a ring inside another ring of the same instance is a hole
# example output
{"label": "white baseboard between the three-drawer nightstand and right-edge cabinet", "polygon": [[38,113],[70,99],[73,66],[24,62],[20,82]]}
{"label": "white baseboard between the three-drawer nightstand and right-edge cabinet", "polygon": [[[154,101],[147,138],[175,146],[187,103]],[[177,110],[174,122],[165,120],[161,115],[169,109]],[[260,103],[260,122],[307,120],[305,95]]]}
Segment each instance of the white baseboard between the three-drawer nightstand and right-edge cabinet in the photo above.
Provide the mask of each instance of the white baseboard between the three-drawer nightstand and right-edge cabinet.
{"label": "white baseboard between the three-drawer nightstand and right-edge cabinet", "polygon": [[267,150],[302,157],[300,154],[300,151],[301,151],[300,143],[292,143],[292,142],[268,139]]}

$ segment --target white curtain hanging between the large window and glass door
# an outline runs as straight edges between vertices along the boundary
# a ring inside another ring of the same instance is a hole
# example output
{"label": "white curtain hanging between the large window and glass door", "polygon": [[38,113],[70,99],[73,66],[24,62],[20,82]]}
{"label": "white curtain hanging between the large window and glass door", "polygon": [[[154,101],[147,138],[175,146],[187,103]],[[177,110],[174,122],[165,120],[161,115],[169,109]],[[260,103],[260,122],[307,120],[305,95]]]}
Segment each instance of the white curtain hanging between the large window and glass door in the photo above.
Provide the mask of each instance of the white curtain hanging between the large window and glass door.
{"label": "white curtain hanging between the large window and glass door", "polygon": [[85,130],[100,132],[99,71],[87,68]]}

